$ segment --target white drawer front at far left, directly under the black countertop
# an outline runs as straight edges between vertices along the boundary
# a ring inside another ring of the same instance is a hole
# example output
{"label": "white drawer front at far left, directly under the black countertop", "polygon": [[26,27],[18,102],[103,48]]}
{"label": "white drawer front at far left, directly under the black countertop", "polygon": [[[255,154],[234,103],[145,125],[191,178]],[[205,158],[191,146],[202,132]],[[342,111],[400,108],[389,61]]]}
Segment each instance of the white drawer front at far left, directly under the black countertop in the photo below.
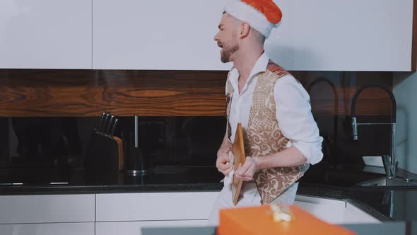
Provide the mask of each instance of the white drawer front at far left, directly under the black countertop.
{"label": "white drawer front at far left, directly under the black countertop", "polygon": [[0,196],[0,224],[94,222],[95,195]]}

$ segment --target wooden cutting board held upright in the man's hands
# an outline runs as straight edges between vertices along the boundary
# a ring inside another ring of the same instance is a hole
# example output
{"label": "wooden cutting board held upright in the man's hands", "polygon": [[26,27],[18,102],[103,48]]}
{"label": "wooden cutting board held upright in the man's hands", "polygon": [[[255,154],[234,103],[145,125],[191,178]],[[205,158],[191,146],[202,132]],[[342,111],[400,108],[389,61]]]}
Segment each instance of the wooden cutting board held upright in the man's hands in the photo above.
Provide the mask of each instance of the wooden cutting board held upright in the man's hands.
{"label": "wooden cutting board held upright in the man's hands", "polygon": [[[234,156],[233,169],[236,171],[237,166],[239,166],[240,163],[245,163],[245,146],[243,145],[243,131],[242,124],[240,123],[237,123],[235,142],[233,142],[232,153]],[[236,205],[237,200],[239,200],[240,188],[242,188],[242,180],[238,180],[235,174],[233,174],[232,197],[234,205]]]}

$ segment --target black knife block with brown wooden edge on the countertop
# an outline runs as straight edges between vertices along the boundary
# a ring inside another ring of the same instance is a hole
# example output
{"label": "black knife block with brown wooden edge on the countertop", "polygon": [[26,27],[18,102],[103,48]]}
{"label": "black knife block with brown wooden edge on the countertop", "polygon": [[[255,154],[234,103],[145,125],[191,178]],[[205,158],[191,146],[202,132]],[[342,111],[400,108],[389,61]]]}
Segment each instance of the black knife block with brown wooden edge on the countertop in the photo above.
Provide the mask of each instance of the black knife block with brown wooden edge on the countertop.
{"label": "black knife block with brown wooden edge on the countertop", "polygon": [[93,130],[86,150],[84,167],[88,171],[120,171],[124,165],[123,142],[119,137]]}

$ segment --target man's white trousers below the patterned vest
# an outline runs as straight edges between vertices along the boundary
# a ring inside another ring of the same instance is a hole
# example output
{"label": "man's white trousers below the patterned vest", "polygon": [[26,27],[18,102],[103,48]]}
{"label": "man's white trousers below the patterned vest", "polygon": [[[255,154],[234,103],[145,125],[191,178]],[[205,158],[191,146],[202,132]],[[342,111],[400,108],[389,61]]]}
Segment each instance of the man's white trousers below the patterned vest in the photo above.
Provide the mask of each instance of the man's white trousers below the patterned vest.
{"label": "man's white trousers below the patterned vest", "polygon": [[[274,204],[293,204],[295,195],[297,193],[298,183],[294,183],[283,194],[276,197],[271,203]],[[231,184],[226,184],[223,190],[219,193],[214,203],[213,210],[209,217],[209,226],[218,226],[219,210],[233,207],[247,207],[247,206],[259,206],[261,205],[261,195],[257,190],[257,185],[254,180],[243,182],[241,189],[242,197],[237,201],[237,205],[233,205],[232,200],[232,187]]]}

